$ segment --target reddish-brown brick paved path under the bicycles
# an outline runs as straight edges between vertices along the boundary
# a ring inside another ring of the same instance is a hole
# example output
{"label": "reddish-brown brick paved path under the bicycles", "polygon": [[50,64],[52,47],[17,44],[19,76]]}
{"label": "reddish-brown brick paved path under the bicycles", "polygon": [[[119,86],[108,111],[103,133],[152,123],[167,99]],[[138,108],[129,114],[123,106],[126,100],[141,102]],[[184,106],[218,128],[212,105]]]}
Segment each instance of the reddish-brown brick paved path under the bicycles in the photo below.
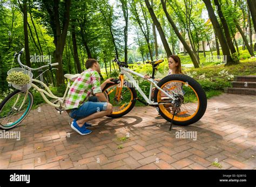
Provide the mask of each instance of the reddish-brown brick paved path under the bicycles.
{"label": "reddish-brown brick paved path under the bicycles", "polygon": [[[48,105],[21,125],[21,140],[0,139],[0,169],[255,169],[256,96],[226,94],[208,100],[204,117],[181,127],[150,106],[123,118],[93,120],[90,135],[70,128],[68,115]],[[197,140],[177,139],[179,130]],[[129,133],[130,138],[122,142]]]}

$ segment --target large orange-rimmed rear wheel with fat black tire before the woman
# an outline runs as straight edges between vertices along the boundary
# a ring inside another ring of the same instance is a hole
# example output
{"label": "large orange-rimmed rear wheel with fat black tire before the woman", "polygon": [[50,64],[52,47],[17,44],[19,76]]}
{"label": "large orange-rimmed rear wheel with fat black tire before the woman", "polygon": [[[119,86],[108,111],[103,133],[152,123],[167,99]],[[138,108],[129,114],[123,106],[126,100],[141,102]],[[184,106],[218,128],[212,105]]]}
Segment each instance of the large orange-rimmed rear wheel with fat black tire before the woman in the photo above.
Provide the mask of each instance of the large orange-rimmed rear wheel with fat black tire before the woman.
{"label": "large orange-rimmed rear wheel with fat black tire before the woman", "polygon": [[164,93],[158,89],[154,91],[154,102],[164,103],[158,105],[158,112],[167,121],[171,122],[173,118],[173,124],[186,126],[204,116],[207,107],[205,91],[193,78],[182,74],[169,75],[158,83],[158,87],[177,98],[177,102],[171,103],[173,100]]}

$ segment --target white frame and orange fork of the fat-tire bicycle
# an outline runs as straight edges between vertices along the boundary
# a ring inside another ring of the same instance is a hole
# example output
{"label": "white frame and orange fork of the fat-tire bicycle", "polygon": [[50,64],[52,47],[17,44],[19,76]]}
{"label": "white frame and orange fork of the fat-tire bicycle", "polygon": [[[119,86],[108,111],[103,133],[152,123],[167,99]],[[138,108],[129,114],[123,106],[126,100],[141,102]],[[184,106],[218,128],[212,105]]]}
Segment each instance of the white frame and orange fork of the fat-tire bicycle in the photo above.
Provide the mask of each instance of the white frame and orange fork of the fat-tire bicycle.
{"label": "white frame and orange fork of the fat-tire bicycle", "polygon": [[[149,105],[159,105],[159,103],[157,102],[153,102],[151,100],[151,96],[152,96],[152,87],[154,85],[154,87],[156,87],[158,90],[160,90],[161,92],[163,92],[167,97],[169,97],[170,99],[173,99],[175,100],[176,98],[173,97],[172,95],[170,95],[169,93],[165,92],[163,89],[161,89],[160,87],[158,87],[158,85],[156,84],[157,81],[154,81],[152,78],[149,78],[147,81],[149,81],[151,84],[150,84],[150,93],[149,93],[149,98],[147,98],[147,96],[145,95],[145,93],[142,91],[142,89],[139,88],[139,85],[136,83],[136,81],[134,80],[134,78],[130,75],[131,74],[134,74],[134,75],[137,75],[138,77],[140,78],[144,78],[144,75],[142,74],[139,74],[135,71],[132,71],[130,70],[129,68],[125,68],[125,67],[120,67],[121,69],[121,75],[120,75],[120,81],[121,81],[121,85],[120,85],[120,88],[117,89],[117,92],[116,92],[116,96],[117,96],[117,99],[119,100],[120,99],[120,93],[122,91],[122,88],[123,88],[123,84],[124,84],[124,75],[133,83],[134,87],[138,90],[138,92],[140,93],[140,95],[142,95],[142,97],[146,100],[146,102],[149,104]],[[174,91],[172,91],[173,93],[175,93]],[[165,103],[161,103],[161,104],[165,104]]]}

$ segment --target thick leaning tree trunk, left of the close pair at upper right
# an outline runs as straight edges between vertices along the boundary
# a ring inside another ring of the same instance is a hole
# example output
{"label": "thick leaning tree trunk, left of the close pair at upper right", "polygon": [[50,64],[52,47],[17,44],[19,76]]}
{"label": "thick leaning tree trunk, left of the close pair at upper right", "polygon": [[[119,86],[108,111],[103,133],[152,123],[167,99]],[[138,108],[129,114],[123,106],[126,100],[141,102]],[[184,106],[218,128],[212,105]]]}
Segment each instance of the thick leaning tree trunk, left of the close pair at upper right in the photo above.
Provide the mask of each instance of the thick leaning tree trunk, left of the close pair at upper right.
{"label": "thick leaning tree trunk, left of the close pair at upper right", "polygon": [[223,32],[221,31],[221,28],[220,28],[220,24],[218,22],[218,19],[217,17],[215,16],[214,14],[214,10],[212,8],[212,4],[211,4],[211,1],[210,0],[203,0],[205,5],[206,5],[206,9],[208,11],[208,15],[212,21],[212,25],[213,25],[213,28],[218,36],[218,39],[219,39],[219,42],[220,42],[220,46],[221,46],[221,49],[223,51],[223,55],[226,56],[226,61],[227,61],[227,65],[231,65],[231,64],[234,64],[235,62],[233,61],[232,57],[231,57],[231,54],[230,54],[230,49],[227,45],[227,41],[224,37],[224,34]]}

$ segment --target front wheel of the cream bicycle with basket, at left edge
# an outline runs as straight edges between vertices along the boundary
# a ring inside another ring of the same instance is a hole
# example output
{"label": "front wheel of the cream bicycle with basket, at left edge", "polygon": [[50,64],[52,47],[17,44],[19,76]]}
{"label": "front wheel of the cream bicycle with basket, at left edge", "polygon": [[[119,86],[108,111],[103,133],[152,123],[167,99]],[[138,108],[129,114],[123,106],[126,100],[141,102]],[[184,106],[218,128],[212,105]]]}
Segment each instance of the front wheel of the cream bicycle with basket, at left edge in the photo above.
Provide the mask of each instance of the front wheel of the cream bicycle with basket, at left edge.
{"label": "front wheel of the cream bicycle with basket, at left edge", "polygon": [[0,104],[0,127],[14,128],[28,116],[33,105],[33,95],[21,90],[10,93]]}

